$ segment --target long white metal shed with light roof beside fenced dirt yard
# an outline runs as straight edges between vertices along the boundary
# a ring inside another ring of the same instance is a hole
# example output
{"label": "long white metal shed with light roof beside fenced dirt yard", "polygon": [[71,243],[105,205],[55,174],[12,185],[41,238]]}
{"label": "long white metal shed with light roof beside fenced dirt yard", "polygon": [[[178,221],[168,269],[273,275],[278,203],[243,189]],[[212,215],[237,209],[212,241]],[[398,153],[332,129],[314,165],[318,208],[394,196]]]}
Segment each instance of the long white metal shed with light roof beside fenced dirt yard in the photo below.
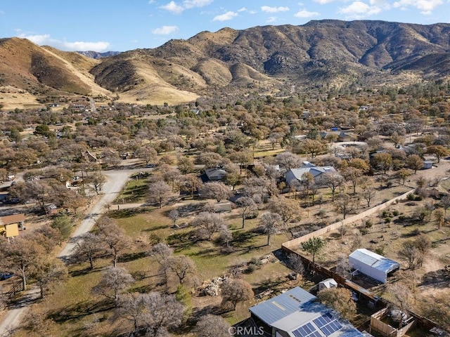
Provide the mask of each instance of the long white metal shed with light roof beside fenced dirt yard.
{"label": "long white metal shed with light roof beside fenced dirt yard", "polygon": [[387,282],[387,274],[400,268],[400,264],[368,249],[356,249],[349,255],[349,263],[355,270],[379,282]]}

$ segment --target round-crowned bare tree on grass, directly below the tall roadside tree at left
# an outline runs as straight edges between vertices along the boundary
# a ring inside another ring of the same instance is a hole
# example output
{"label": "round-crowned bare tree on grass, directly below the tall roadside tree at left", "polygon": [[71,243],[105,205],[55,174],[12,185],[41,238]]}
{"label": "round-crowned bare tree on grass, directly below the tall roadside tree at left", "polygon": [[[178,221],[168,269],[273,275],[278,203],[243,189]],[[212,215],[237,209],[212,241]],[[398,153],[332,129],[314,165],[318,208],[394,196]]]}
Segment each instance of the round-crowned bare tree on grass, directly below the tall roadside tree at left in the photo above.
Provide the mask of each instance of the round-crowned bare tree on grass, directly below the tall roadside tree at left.
{"label": "round-crowned bare tree on grass, directly below the tall roadside tree at left", "polygon": [[114,300],[118,305],[119,293],[134,283],[133,277],[122,267],[108,267],[101,275],[100,282],[92,289],[97,293]]}

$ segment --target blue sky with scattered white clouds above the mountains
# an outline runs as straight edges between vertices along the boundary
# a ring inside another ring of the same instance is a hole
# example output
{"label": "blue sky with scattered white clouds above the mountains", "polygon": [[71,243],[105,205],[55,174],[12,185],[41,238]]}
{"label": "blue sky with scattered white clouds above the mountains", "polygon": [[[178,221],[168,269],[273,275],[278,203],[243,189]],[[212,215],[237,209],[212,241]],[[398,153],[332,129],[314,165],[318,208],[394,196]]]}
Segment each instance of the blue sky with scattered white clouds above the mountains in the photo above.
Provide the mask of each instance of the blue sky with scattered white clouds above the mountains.
{"label": "blue sky with scattered white clouds above the mountains", "polygon": [[65,51],[155,48],[223,27],[309,20],[450,22],[450,0],[0,0],[0,38]]}

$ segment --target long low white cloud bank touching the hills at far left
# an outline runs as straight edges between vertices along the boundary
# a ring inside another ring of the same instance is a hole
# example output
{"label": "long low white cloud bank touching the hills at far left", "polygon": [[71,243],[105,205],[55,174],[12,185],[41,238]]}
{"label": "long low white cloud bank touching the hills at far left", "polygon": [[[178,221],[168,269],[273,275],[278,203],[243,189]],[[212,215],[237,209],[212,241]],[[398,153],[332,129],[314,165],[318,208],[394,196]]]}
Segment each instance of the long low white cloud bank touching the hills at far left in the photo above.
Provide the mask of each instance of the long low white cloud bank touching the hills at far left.
{"label": "long low white cloud bank touching the hills at far left", "polygon": [[60,41],[58,39],[53,39],[49,34],[20,34],[19,37],[23,39],[29,39],[34,42],[34,44],[39,44],[39,46],[49,45],[58,48],[62,51],[108,51],[111,47],[109,42],[98,41],[98,42],[87,42],[87,41]]}

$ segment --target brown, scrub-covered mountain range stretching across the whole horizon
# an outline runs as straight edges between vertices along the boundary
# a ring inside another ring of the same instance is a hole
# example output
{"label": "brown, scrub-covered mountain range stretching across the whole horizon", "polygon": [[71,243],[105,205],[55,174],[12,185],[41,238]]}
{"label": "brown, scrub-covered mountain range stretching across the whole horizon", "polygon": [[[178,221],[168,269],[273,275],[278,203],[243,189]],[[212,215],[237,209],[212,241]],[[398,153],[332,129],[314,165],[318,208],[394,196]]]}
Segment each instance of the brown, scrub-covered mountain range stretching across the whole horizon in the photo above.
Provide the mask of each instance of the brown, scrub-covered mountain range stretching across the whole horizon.
{"label": "brown, scrub-covered mountain range stretching across the whole horizon", "polygon": [[162,104],[242,88],[442,79],[450,75],[450,24],[314,20],[200,32],[102,58],[83,54],[0,39],[0,86],[36,97],[118,95]]}

